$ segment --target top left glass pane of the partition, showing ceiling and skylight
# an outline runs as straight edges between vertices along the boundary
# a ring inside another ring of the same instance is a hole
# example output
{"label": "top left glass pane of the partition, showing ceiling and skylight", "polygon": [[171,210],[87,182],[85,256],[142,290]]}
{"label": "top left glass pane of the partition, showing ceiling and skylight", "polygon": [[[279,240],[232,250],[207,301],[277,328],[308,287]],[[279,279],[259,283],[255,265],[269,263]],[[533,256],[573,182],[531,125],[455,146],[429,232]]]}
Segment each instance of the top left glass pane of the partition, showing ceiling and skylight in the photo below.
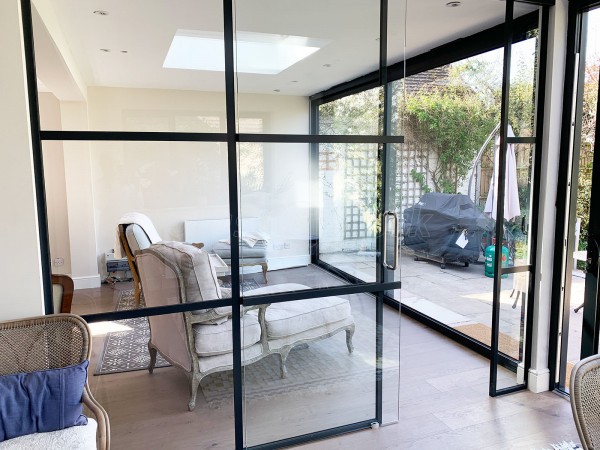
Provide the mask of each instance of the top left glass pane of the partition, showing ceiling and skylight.
{"label": "top left glass pane of the partition, showing ceiling and skylight", "polygon": [[39,9],[40,90],[62,109],[50,129],[225,132],[222,2],[177,3]]}

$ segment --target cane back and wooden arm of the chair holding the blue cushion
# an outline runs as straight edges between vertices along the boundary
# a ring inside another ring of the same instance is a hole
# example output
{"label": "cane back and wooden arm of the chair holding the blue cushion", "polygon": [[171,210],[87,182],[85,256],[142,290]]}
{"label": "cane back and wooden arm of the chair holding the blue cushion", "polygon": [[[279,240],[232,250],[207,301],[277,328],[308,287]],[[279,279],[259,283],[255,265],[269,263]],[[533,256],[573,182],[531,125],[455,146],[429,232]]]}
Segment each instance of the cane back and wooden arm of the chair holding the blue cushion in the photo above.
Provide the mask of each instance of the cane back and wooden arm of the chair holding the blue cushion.
{"label": "cane back and wooden arm of the chair holding the blue cushion", "polygon": [[[80,364],[90,359],[91,352],[90,330],[81,317],[73,314],[0,322],[0,375]],[[82,401],[98,422],[98,449],[109,449],[108,415],[92,396],[87,382]]]}

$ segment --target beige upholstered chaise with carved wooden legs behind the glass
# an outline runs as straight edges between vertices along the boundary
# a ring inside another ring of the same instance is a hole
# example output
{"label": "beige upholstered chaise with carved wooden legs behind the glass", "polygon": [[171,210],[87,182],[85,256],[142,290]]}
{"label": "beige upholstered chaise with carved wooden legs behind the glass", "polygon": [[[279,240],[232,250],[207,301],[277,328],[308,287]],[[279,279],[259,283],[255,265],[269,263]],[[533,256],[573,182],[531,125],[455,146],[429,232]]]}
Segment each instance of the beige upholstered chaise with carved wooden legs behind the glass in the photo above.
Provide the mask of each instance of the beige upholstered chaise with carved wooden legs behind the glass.
{"label": "beige upholstered chaise with carved wooden legs behind the glass", "polygon": [[[215,300],[230,296],[223,289],[208,253],[178,242],[159,242],[136,257],[147,306]],[[280,284],[253,290],[267,294],[306,289],[300,284]],[[248,294],[248,292],[246,293]],[[351,353],[354,319],[350,303],[340,297],[262,305],[242,309],[242,364],[277,354],[281,376],[290,350],[301,343],[346,332]],[[171,364],[185,370],[191,381],[189,409],[196,405],[200,381],[205,376],[230,370],[232,357],[231,307],[204,309],[182,314],[149,317],[151,355],[154,369],[159,352]]]}

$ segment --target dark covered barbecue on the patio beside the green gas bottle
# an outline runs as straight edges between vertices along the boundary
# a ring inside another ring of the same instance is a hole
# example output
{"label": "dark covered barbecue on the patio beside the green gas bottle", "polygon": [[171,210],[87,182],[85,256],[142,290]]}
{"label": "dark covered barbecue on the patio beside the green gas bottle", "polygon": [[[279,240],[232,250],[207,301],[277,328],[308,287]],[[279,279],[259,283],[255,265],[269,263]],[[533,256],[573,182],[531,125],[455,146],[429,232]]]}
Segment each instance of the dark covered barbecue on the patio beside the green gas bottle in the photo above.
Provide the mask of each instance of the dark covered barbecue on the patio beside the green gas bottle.
{"label": "dark covered barbecue on the patio beside the green gas bottle", "polygon": [[468,266],[479,259],[481,239],[493,229],[493,221],[462,194],[431,192],[404,210],[403,244],[414,250],[415,259]]}

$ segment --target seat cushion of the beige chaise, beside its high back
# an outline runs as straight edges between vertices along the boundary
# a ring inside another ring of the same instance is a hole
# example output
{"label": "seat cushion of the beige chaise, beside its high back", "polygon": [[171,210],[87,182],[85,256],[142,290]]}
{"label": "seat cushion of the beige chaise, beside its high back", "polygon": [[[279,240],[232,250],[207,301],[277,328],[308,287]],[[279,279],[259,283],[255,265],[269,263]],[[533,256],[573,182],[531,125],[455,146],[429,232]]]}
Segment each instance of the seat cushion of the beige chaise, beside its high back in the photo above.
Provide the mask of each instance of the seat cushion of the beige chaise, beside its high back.
{"label": "seat cushion of the beige chaise, beside its high back", "polygon": [[[198,356],[214,356],[233,351],[232,324],[194,325],[194,343]],[[242,348],[251,347],[260,341],[260,325],[253,314],[242,317]]]}

